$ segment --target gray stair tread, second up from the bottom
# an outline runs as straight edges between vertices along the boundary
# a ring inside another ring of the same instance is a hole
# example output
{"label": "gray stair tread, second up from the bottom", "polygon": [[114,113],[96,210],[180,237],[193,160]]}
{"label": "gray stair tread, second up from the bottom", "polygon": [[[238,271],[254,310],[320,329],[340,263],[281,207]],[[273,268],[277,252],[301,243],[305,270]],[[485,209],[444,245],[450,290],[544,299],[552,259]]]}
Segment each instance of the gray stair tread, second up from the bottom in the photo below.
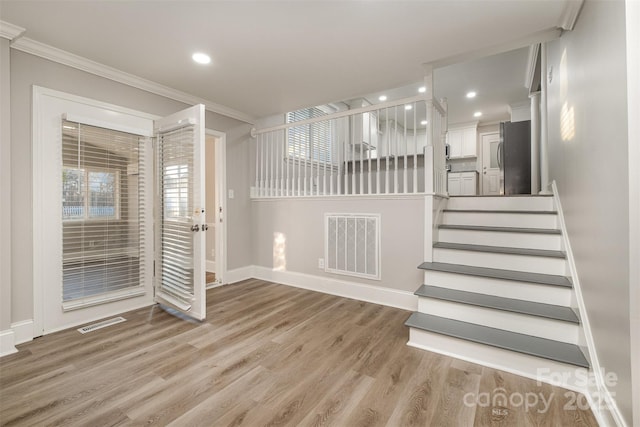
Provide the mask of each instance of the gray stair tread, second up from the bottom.
{"label": "gray stair tread, second up from the bottom", "polygon": [[570,323],[580,323],[578,316],[570,307],[543,304],[539,302],[523,301],[475,292],[459,291],[457,289],[439,286],[422,285],[415,292],[419,297],[435,298],[479,307],[493,308],[512,313],[527,314],[547,319],[561,320]]}

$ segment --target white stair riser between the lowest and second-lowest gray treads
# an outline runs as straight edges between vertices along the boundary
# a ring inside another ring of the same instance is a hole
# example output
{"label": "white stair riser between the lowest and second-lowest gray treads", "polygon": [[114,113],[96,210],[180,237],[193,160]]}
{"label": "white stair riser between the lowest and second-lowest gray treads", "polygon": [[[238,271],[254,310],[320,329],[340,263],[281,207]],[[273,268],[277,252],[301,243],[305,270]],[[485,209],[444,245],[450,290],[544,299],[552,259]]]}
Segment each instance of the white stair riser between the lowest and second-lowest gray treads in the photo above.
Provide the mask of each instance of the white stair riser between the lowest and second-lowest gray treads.
{"label": "white stair riser between the lowest and second-lowest gray treads", "polygon": [[418,311],[476,325],[578,344],[579,326],[575,323],[424,297],[418,299]]}

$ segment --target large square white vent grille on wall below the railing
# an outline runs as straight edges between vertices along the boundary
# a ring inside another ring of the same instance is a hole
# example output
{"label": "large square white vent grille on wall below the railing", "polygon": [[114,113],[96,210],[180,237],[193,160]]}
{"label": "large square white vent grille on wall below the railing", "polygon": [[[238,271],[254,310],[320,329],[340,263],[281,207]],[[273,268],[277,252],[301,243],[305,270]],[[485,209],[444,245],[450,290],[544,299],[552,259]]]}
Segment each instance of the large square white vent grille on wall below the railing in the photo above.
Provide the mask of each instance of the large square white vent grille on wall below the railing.
{"label": "large square white vent grille on wall below the railing", "polygon": [[380,280],[380,215],[325,214],[325,271]]}

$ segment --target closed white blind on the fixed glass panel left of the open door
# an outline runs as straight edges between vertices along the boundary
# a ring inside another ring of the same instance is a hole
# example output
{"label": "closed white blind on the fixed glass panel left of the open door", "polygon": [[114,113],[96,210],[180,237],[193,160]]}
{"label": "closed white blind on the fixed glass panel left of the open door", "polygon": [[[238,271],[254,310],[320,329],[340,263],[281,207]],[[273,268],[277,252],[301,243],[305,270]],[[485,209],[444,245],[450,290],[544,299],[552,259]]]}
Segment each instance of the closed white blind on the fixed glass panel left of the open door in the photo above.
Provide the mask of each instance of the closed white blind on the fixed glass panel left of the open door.
{"label": "closed white blind on the fixed glass panel left of the open door", "polygon": [[144,138],[62,121],[63,302],[144,283]]}

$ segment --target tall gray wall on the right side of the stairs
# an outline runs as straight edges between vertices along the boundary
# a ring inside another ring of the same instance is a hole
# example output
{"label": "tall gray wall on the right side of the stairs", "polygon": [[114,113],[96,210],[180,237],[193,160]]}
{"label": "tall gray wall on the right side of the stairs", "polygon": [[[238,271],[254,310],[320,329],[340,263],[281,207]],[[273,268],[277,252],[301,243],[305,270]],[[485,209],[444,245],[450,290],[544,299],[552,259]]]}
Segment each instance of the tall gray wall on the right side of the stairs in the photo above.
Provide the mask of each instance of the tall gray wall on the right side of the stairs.
{"label": "tall gray wall on the right side of the stairs", "polygon": [[585,2],[574,31],[549,44],[548,107],[551,177],[598,358],[631,425],[625,53],[624,2]]}

